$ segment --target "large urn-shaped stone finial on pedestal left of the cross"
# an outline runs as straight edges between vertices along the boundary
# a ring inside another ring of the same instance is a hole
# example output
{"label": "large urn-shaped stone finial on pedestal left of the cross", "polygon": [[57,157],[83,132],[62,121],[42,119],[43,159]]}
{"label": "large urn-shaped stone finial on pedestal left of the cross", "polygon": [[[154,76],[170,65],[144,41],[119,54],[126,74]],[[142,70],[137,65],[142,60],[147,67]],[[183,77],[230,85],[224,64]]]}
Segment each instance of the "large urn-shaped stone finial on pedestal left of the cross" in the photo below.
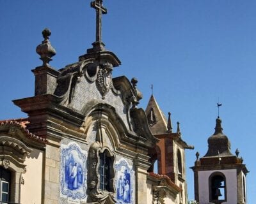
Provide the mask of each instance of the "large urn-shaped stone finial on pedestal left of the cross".
{"label": "large urn-shaped stone finial on pedestal left of the cross", "polygon": [[36,47],[36,53],[40,55],[40,59],[43,61],[42,66],[49,66],[49,62],[52,61],[51,57],[56,54],[56,50],[52,47],[49,41],[49,36],[51,36],[51,31],[47,28],[42,31],[44,41],[42,44]]}

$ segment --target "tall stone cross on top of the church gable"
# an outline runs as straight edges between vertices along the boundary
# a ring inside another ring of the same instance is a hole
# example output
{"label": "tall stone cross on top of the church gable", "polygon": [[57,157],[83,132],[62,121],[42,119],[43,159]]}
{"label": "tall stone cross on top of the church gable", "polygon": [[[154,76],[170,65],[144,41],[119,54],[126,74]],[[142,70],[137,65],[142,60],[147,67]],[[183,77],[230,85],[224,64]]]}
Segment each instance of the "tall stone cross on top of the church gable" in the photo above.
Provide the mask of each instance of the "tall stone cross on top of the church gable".
{"label": "tall stone cross on top of the church gable", "polygon": [[106,14],[107,9],[103,7],[102,0],[92,1],[91,7],[96,10],[96,42],[100,42],[102,14]]}

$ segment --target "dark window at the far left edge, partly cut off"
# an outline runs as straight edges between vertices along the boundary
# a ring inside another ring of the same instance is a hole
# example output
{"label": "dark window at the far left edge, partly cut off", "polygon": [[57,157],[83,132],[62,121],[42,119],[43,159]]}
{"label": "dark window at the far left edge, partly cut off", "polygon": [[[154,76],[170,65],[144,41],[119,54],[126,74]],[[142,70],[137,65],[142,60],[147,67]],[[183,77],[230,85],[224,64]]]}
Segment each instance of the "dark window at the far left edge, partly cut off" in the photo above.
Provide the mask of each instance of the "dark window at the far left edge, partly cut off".
{"label": "dark window at the far left edge, partly cut off", "polygon": [[10,201],[11,173],[0,167],[0,203]]}

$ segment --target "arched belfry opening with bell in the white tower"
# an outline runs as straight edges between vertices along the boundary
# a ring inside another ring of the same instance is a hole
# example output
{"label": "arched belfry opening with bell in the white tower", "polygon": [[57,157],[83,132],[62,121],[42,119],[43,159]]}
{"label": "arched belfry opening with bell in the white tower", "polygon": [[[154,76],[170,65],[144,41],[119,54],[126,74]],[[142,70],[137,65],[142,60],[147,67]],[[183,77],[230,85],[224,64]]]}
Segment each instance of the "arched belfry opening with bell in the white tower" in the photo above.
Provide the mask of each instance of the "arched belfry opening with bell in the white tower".
{"label": "arched belfry opening with bell in the white tower", "polygon": [[226,178],[221,172],[212,173],[209,177],[210,201],[227,201]]}

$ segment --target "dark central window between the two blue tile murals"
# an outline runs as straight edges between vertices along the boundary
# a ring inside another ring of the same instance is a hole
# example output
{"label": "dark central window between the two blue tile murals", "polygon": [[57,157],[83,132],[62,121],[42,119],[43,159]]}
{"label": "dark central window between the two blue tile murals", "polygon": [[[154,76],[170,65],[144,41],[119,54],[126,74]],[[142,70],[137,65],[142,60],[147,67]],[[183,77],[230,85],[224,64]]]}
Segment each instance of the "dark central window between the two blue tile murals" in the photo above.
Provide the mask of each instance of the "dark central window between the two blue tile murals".
{"label": "dark central window between the two blue tile murals", "polygon": [[109,191],[110,187],[110,157],[108,157],[106,150],[100,153],[100,189],[103,191]]}

